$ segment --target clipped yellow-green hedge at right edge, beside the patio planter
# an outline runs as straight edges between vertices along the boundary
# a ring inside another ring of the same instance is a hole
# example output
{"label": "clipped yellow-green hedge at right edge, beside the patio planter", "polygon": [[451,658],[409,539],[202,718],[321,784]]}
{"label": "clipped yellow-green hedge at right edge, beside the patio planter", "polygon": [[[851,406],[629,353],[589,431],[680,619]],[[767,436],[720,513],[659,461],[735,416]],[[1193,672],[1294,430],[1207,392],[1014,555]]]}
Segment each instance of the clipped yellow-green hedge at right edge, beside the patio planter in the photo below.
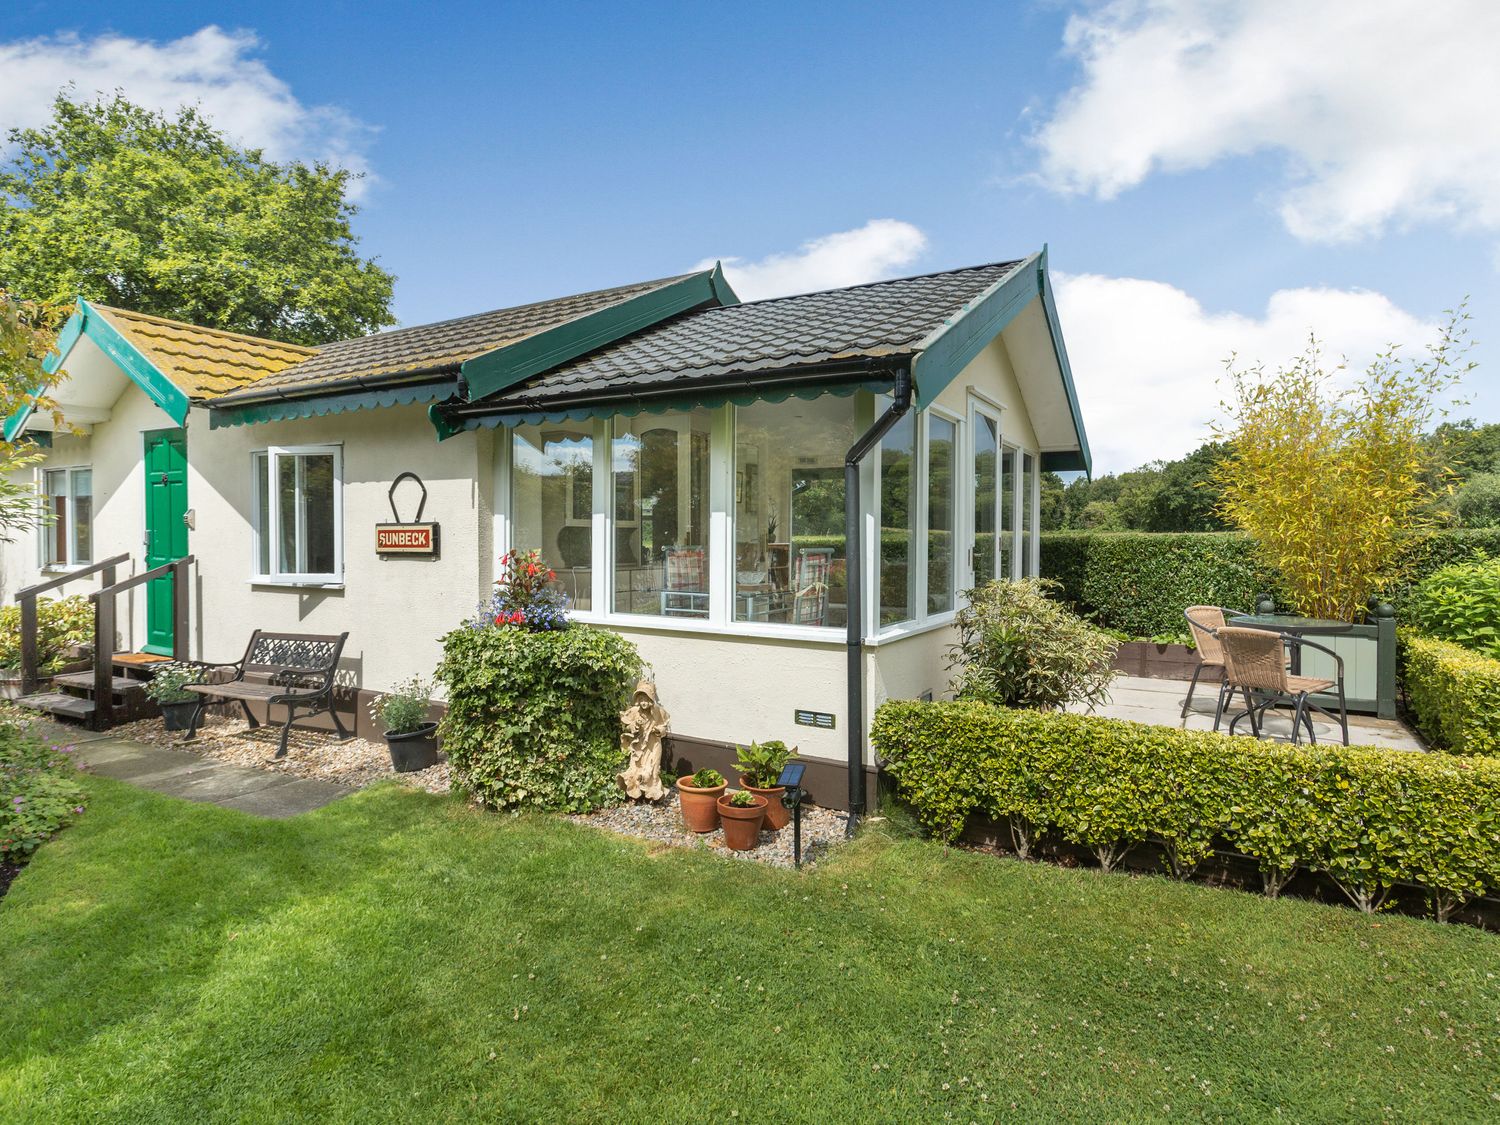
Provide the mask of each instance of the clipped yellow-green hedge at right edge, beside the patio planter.
{"label": "clipped yellow-green hedge at right edge, beside the patio planter", "polygon": [[1500,754],[1500,660],[1402,632],[1406,692],[1418,728],[1455,754]]}

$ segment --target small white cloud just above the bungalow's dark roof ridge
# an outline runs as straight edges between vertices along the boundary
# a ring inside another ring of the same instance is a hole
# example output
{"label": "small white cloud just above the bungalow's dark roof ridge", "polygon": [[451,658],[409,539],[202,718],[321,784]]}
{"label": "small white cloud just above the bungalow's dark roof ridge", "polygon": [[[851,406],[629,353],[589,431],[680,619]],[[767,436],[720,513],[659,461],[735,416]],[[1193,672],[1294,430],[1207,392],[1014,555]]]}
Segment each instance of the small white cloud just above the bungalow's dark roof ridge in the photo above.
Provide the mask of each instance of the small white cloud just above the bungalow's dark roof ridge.
{"label": "small white cloud just above the bungalow's dark roof ridge", "polygon": [[[872,219],[852,231],[804,242],[790,254],[759,261],[724,258],[724,276],[741,300],[784,297],[892,278],[927,249],[927,236],[900,219]],[[693,268],[704,270],[712,258]]]}

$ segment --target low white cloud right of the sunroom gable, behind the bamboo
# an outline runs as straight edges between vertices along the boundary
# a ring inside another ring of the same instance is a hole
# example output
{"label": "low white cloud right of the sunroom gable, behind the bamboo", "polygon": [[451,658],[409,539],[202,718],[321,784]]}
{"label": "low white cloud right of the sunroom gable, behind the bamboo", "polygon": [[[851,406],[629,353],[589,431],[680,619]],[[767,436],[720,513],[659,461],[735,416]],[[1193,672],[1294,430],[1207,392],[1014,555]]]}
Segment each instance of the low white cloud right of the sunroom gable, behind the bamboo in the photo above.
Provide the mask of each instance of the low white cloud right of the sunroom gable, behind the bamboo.
{"label": "low white cloud right of the sunroom gable, behind the bamboo", "polygon": [[1053,274],[1058,318],[1078,386],[1094,471],[1172,459],[1210,438],[1224,360],[1268,370],[1300,354],[1317,332],[1330,364],[1360,370],[1388,344],[1436,339],[1437,324],[1364,290],[1278,290],[1262,316],[1208,312],[1164,282]]}

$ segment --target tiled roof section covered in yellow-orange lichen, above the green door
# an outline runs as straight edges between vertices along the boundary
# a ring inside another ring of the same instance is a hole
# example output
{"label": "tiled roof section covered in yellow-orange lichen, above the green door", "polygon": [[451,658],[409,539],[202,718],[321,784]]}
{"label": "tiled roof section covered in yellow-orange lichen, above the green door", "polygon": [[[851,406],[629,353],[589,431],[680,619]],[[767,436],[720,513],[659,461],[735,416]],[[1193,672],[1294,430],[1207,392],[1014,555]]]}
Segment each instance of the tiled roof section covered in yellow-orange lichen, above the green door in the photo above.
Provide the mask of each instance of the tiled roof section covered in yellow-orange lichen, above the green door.
{"label": "tiled roof section covered in yellow-orange lichen, above the green door", "polygon": [[316,354],[296,344],[200,328],[129,309],[92,308],[190,399],[226,394]]}

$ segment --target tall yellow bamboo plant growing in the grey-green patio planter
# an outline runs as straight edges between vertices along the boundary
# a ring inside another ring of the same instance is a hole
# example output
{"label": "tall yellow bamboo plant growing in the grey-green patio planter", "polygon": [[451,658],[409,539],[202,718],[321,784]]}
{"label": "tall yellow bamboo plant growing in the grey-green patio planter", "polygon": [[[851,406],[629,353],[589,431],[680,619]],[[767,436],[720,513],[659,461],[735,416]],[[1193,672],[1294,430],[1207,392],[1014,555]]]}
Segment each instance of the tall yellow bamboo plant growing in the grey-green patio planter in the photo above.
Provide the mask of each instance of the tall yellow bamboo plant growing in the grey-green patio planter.
{"label": "tall yellow bamboo plant growing in the grey-green patio planter", "polygon": [[1473,368],[1458,364],[1466,321],[1454,314],[1425,358],[1388,350],[1347,390],[1341,369],[1323,369],[1316,339],[1270,378],[1227,364],[1228,424],[1215,429],[1234,454],[1214,470],[1220,510],[1256,538],[1300,612],[1354,620],[1436,528],[1424,435]]}

